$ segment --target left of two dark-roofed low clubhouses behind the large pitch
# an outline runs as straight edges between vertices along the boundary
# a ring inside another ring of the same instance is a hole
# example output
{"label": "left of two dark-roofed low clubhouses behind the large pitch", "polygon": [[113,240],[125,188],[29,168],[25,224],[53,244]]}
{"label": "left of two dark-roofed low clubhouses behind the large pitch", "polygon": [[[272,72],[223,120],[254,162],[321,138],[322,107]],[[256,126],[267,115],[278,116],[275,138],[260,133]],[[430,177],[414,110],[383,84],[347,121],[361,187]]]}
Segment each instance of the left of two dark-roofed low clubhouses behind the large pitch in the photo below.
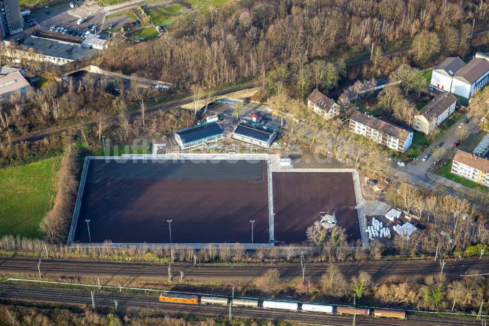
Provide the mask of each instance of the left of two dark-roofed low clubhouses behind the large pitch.
{"label": "left of two dark-roofed low clubhouses behind the large pitch", "polygon": [[177,130],[174,134],[180,149],[195,147],[212,140],[220,140],[224,136],[224,132],[217,122]]}

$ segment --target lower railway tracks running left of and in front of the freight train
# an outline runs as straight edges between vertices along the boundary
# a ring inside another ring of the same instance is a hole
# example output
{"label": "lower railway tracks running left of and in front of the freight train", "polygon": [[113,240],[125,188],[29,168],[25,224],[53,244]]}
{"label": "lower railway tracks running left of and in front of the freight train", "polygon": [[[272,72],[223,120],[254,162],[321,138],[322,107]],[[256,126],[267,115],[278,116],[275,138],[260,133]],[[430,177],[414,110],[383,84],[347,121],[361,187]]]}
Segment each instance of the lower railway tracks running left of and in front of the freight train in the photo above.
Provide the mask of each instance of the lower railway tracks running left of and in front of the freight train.
{"label": "lower railway tracks running left of and in front of the freight train", "polygon": [[[29,286],[0,285],[0,300],[13,302],[44,302],[63,305],[91,305],[91,296],[88,291],[37,288]],[[114,300],[121,308],[151,309],[156,311],[168,311],[172,313],[192,313],[226,317],[229,313],[227,307],[200,304],[162,303],[156,296],[136,296],[122,293],[95,293],[96,306],[113,306]],[[301,324],[319,324],[331,326],[352,325],[352,316],[328,315],[321,313],[289,312],[280,310],[268,310],[261,308],[233,307],[232,314],[235,317],[283,320],[286,322]],[[356,316],[356,325],[389,325],[389,326],[471,326],[481,325],[477,320],[460,320],[437,317],[408,316],[407,320],[378,319],[365,316]]]}

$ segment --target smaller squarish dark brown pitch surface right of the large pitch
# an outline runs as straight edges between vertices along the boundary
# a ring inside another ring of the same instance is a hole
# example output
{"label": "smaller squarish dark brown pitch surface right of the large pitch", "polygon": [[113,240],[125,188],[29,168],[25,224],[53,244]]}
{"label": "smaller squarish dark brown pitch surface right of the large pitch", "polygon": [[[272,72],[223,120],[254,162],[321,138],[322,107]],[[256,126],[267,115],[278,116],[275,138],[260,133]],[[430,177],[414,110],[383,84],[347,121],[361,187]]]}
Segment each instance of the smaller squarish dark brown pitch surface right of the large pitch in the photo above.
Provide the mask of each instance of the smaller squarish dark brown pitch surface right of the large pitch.
{"label": "smaller squarish dark brown pitch surface right of the large pitch", "polygon": [[360,238],[355,186],[349,172],[273,172],[275,240],[300,243],[324,213],[334,213],[350,241]]}

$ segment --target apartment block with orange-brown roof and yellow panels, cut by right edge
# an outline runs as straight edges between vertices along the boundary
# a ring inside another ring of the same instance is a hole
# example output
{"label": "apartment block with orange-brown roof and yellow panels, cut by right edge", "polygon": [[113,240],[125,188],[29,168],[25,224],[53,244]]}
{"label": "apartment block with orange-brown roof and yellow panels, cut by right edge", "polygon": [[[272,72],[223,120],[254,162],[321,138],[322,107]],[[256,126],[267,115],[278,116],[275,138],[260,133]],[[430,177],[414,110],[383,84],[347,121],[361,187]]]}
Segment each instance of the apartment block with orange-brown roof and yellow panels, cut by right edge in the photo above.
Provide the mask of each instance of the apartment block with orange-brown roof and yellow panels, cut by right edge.
{"label": "apartment block with orange-brown roof and yellow panels, cut by right edge", "polygon": [[459,149],[450,172],[489,187],[489,160],[485,157]]}

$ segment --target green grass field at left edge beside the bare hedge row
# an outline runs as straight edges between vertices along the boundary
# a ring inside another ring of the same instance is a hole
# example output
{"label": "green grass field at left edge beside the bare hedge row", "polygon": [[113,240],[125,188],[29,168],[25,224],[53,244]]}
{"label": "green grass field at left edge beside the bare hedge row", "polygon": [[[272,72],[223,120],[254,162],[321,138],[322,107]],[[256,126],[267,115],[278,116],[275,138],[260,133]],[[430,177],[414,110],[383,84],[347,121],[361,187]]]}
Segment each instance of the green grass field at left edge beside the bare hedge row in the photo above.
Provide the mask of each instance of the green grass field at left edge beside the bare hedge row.
{"label": "green grass field at left edge beside the bare hedge row", "polygon": [[0,236],[42,237],[39,224],[56,195],[61,157],[0,170]]}

